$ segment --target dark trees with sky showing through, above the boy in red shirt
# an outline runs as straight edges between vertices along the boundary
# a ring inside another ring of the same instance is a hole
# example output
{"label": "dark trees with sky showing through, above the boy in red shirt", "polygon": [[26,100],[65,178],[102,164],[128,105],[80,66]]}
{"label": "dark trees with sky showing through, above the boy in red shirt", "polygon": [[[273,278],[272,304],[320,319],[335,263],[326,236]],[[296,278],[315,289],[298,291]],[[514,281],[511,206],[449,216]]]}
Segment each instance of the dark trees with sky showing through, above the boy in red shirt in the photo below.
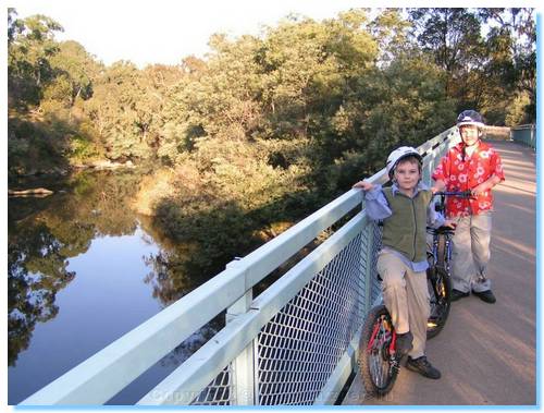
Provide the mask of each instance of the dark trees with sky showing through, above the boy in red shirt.
{"label": "dark trees with sky showing through, above the boy in red shirt", "polygon": [[[532,9],[409,9],[412,32],[447,80],[457,109],[516,123],[519,105],[535,118],[535,28]],[[524,104],[523,104],[524,102]]]}

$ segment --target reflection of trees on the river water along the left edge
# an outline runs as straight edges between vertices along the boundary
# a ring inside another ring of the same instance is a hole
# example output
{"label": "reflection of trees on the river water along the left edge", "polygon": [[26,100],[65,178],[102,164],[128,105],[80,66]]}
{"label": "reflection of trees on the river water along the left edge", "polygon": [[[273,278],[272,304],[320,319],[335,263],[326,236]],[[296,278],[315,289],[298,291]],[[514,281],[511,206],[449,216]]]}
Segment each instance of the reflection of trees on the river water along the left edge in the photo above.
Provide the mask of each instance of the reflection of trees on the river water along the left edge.
{"label": "reflection of trees on the river water along the left edge", "polygon": [[67,258],[85,253],[97,235],[134,233],[136,221],[128,205],[137,180],[135,173],[85,172],[63,182],[66,193],[10,199],[10,365],[28,348],[36,324],[57,316],[57,292],[75,277],[67,270]]}

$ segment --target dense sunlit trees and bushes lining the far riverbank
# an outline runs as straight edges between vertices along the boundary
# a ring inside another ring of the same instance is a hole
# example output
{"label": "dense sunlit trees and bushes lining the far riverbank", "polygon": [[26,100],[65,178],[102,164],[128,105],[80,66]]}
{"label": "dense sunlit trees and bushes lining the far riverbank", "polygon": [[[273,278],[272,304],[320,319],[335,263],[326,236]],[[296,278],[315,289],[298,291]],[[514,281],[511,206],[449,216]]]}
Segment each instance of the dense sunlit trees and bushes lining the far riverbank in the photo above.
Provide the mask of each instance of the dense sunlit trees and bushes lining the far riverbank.
{"label": "dense sunlit trees and bushes lining the far riverbank", "polygon": [[391,148],[446,130],[461,109],[496,125],[535,120],[532,9],[371,14],[289,16],[259,37],[213,35],[206,59],[138,69],[107,66],[55,41],[59,23],[10,9],[10,174],[147,165],[136,207],[221,262],[381,169]]}

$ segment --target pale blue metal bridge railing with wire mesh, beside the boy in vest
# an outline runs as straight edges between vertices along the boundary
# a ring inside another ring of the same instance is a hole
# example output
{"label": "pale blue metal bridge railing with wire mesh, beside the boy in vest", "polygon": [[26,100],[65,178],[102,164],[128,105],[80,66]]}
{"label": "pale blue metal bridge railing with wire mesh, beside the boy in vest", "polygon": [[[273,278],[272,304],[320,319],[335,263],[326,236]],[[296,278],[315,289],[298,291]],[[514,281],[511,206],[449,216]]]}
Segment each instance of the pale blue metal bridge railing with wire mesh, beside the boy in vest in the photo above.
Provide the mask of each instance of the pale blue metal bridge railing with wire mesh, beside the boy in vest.
{"label": "pale blue metal bridge railing with wire mesh, beside the boy in vest", "polygon": [[[421,145],[423,180],[458,139]],[[356,179],[356,178],[354,178]],[[384,170],[371,179],[387,181]],[[380,294],[381,236],[350,190],[22,402],[102,404],[226,309],[226,325],[138,404],[331,404],[354,371]],[[252,288],[324,230],[357,212],[257,297]],[[353,214],[353,212],[351,212]]]}

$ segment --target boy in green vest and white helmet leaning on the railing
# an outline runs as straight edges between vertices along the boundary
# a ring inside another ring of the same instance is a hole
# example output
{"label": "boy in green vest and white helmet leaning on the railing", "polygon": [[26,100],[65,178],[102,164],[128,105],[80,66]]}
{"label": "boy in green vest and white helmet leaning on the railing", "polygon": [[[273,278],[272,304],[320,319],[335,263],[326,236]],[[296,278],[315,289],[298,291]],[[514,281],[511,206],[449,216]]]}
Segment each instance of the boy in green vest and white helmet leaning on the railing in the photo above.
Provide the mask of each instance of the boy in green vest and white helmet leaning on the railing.
{"label": "boy in green vest and white helmet leaning on the railing", "polygon": [[382,250],[378,272],[383,299],[397,332],[397,352],[408,354],[406,368],[437,379],[441,373],[424,355],[426,321],[430,314],[426,286],[426,224],[449,224],[431,203],[434,189],[421,181],[422,158],[403,146],[391,153],[386,170],[393,186],[382,189],[368,181],[354,187],[366,191],[366,208],[373,220],[383,220]]}

